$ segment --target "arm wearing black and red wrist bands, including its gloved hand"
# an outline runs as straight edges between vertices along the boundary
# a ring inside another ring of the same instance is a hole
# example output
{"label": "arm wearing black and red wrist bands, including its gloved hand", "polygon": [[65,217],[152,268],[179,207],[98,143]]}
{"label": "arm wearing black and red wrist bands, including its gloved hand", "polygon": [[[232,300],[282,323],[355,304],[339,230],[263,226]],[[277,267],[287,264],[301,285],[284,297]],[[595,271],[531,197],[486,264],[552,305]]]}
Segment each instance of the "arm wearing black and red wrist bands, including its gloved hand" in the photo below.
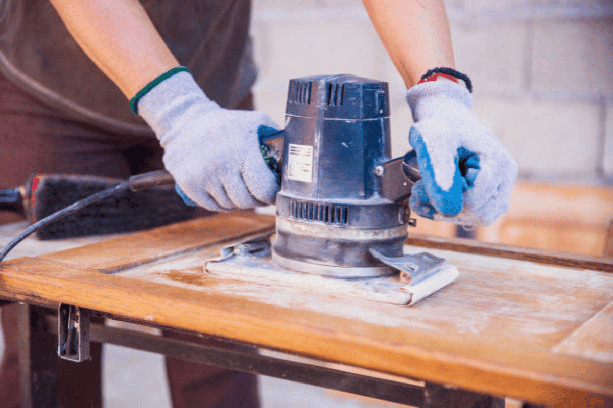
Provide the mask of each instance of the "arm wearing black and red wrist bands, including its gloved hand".
{"label": "arm wearing black and red wrist bands, including its gloved hand", "polygon": [[452,70],[450,78],[463,83],[434,75],[419,83],[432,69],[454,69],[443,0],[364,0],[364,5],[405,82],[413,114],[409,144],[422,178],[411,190],[411,209],[433,220],[493,223],[509,208],[516,161],[471,112],[467,76]]}

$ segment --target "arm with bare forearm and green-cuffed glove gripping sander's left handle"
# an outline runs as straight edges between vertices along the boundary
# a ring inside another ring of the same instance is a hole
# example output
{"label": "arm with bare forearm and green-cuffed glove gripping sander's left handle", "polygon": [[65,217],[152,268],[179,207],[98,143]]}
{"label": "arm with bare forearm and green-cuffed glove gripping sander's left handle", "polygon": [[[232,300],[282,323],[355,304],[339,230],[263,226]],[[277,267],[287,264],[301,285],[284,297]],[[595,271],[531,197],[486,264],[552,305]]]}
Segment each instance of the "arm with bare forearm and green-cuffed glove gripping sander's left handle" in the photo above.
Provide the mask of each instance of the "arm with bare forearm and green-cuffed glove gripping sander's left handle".
{"label": "arm with bare forearm and green-cuffed glove gripping sander's left handle", "polygon": [[164,166],[191,202],[227,211],[275,201],[279,185],[257,137],[259,126],[277,126],[268,115],[210,100],[178,67],[139,1],[51,2],[83,51],[156,133]]}

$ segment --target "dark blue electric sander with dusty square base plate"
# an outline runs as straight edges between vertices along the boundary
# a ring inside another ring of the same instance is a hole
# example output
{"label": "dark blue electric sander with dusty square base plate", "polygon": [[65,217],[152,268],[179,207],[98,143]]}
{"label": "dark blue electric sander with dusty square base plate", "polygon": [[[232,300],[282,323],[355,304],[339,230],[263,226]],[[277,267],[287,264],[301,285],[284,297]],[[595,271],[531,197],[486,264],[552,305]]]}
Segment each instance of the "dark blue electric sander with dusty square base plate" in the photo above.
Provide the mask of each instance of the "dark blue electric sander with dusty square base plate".
{"label": "dark blue electric sander with dusty square base plate", "polygon": [[285,128],[261,136],[278,172],[276,233],[224,247],[211,275],[412,305],[457,269],[404,254],[413,151],[390,157],[387,83],[353,75],[289,81]]}

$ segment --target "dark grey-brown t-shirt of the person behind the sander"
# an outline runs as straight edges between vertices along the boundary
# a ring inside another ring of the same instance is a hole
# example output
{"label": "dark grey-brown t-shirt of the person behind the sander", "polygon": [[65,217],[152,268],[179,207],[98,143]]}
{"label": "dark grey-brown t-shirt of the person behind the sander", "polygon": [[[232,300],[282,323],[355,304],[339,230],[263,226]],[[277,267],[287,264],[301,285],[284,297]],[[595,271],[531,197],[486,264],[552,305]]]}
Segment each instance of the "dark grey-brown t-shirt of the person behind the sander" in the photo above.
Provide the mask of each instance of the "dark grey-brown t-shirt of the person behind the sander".
{"label": "dark grey-brown t-shirt of the person behind the sander", "polygon": [[[142,0],[181,65],[211,99],[233,108],[256,67],[250,0]],[[112,132],[151,133],[79,48],[49,0],[0,0],[0,72],[43,102]]]}

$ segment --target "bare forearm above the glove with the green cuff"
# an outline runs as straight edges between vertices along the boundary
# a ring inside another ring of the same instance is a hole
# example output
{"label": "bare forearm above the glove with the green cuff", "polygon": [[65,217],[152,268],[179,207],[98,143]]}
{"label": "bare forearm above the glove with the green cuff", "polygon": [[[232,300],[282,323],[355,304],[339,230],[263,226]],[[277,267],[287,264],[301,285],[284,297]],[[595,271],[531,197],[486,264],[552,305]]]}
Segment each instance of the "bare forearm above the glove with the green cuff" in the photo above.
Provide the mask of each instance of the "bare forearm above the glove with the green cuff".
{"label": "bare forearm above the glove with the green cuff", "polygon": [[51,0],[70,34],[126,97],[178,64],[138,0]]}

